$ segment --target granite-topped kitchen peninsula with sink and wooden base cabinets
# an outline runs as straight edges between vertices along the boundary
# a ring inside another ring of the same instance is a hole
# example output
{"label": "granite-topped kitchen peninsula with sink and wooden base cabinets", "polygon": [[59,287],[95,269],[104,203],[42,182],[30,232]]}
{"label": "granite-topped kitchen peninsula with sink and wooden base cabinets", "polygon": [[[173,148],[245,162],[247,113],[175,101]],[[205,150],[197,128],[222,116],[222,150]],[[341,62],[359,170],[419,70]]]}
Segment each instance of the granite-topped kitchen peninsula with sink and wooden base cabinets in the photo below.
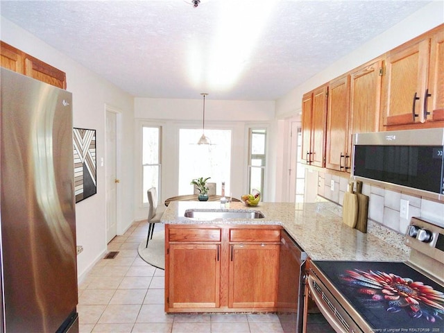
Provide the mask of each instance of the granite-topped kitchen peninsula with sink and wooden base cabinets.
{"label": "granite-topped kitchen peninsula with sink and wooden base cabinets", "polygon": [[[209,217],[185,217],[192,211]],[[212,215],[228,211],[241,214]],[[245,218],[245,212],[260,212],[263,217]],[[302,295],[298,280],[304,275],[295,271],[303,262],[284,264],[284,234],[312,260],[402,262],[409,255],[400,234],[350,228],[342,223],[341,206],[329,201],[257,207],[230,203],[224,208],[217,202],[175,201],[161,222],[165,224],[167,313],[279,311],[279,298],[291,293],[282,290],[282,278],[296,289],[296,295]],[[292,307],[300,307],[298,303]]]}

